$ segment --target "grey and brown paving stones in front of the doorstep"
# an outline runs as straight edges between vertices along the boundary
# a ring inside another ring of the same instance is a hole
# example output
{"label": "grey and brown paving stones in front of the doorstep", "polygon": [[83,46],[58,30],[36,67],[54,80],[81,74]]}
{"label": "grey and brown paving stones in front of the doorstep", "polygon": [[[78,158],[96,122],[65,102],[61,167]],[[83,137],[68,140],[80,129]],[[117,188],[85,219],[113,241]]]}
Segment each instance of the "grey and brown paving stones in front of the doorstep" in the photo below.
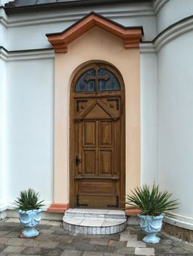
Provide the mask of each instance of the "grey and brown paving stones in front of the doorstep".
{"label": "grey and brown paving stones in front of the doorstep", "polygon": [[63,230],[61,222],[39,225],[36,238],[20,238],[20,223],[0,221],[0,255],[47,256],[193,256],[193,245],[160,234],[159,244],[142,242],[139,226],[127,226],[114,235],[77,235]]}

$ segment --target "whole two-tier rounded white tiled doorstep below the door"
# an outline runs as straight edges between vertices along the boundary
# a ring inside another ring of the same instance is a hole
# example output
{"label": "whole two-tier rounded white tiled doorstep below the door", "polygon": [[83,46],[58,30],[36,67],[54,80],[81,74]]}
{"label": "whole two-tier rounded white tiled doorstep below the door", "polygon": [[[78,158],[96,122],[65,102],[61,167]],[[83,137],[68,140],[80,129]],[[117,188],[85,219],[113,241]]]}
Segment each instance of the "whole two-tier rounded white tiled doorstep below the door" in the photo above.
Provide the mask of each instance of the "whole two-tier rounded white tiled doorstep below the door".
{"label": "whole two-tier rounded white tiled doorstep below the door", "polygon": [[68,209],[63,217],[63,227],[73,233],[114,234],[125,229],[124,211],[103,209]]}

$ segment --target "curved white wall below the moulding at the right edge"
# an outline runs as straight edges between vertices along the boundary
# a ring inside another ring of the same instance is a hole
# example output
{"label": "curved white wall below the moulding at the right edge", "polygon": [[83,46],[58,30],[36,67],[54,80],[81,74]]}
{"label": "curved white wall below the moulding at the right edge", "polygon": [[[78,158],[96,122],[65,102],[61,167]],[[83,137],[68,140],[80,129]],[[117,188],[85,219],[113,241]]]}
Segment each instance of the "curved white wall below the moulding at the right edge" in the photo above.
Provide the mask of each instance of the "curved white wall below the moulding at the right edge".
{"label": "curved white wall below the moulding at the right edge", "polygon": [[178,198],[176,213],[193,217],[193,31],[158,53],[159,184]]}

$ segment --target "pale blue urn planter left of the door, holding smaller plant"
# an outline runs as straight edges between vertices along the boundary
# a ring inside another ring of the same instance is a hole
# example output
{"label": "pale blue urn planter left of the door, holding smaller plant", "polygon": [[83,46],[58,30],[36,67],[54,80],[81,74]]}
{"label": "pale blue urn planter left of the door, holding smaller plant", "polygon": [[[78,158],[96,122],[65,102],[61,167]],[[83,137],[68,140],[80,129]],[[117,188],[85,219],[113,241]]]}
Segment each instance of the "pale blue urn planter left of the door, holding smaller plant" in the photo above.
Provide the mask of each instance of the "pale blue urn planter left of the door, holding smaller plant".
{"label": "pale blue urn planter left of the door, holding smaller plant", "polygon": [[36,230],[35,227],[41,220],[41,211],[42,209],[18,211],[20,215],[20,222],[26,227],[26,229],[23,231],[23,236],[32,237],[39,235],[39,231]]}

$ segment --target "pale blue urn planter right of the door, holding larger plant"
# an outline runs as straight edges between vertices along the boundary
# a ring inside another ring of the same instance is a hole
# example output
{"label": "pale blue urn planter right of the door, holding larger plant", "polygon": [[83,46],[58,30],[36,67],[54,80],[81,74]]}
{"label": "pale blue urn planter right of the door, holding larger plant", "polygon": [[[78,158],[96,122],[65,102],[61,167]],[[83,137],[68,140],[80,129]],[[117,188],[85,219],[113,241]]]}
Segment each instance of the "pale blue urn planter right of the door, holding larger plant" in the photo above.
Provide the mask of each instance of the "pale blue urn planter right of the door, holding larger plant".
{"label": "pale blue urn planter right of the door, holding larger plant", "polygon": [[164,215],[149,216],[139,214],[138,217],[140,218],[141,230],[147,234],[147,236],[143,238],[143,241],[151,244],[159,243],[160,238],[156,235],[162,228],[162,219]]}

